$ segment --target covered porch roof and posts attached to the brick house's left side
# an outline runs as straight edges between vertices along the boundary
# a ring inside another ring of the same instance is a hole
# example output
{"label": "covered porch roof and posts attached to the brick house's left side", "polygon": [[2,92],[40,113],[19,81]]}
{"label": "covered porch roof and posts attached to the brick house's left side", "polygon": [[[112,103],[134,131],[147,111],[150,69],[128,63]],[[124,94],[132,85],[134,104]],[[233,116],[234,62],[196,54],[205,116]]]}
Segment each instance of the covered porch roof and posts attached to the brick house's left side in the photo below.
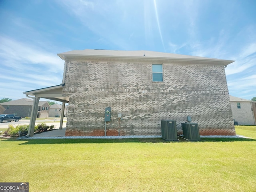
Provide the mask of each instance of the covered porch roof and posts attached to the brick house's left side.
{"label": "covered porch roof and posts attached to the brick house's left side", "polygon": [[[63,129],[63,117],[64,117],[65,104],[69,102],[68,97],[62,96],[63,86],[64,86],[64,84],[60,84],[60,85],[56,85],[56,86],[51,86],[51,87],[46,87],[46,88],[41,88],[41,89],[24,92],[24,94],[26,94],[26,96],[28,98],[33,99],[33,105],[32,105],[32,112],[31,112],[31,116],[30,116],[28,134],[24,137],[20,137],[19,139],[34,136],[34,127],[35,127],[35,123],[36,123],[36,116],[37,116],[37,112],[38,112],[38,103],[39,103],[40,98],[62,102],[62,109],[61,109],[62,112],[61,112],[61,116],[60,116],[59,130]],[[64,130],[61,131],[62,135],[63,135],[63,132],[64,132]]]}

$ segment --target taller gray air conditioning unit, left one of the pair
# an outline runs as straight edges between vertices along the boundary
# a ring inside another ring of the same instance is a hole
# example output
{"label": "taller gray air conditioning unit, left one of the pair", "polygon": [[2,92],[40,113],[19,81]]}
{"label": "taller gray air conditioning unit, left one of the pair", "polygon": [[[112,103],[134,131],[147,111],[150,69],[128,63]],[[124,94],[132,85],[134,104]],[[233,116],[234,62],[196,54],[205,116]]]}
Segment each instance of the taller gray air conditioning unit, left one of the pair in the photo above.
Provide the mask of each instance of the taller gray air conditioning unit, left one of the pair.
{"label": "taller gray air conditioning unit, left one of the pair", "polygon": [[175,120],[161,120],[162,138],[166,141],[178,141]]}

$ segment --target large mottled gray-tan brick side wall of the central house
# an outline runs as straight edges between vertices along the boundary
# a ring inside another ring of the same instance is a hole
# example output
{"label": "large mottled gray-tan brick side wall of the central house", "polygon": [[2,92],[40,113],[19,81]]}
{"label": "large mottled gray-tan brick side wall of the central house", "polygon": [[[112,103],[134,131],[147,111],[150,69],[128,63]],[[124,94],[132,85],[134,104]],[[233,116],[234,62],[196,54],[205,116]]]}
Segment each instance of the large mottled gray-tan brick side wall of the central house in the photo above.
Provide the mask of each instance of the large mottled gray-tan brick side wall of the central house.
{"label": "large mottled gray-tan brick side wall of the central house", "polygon": [[182,134],[187,116],[201,135],[235,135],[224,66],[164,63],[164,82],[152,82],[152,63],[67,61],[66,67],[66,136],[103,136],[108,106],[107,135],[161,135],[163,119],[176,120]]}

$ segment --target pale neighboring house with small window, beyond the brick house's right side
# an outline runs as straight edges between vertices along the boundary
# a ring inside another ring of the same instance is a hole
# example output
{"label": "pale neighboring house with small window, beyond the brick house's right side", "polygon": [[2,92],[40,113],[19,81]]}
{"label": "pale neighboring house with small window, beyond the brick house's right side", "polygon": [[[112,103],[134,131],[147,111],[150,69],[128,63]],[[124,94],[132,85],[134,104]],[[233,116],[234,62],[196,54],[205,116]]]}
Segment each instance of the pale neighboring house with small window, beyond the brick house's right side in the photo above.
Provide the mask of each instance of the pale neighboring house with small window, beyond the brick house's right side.
{"label": "pale neighboring house with small window, beyond the brick house's right side", "polygon": [[230,95],[232,115],[238,125],[255,125],[254,102]]}

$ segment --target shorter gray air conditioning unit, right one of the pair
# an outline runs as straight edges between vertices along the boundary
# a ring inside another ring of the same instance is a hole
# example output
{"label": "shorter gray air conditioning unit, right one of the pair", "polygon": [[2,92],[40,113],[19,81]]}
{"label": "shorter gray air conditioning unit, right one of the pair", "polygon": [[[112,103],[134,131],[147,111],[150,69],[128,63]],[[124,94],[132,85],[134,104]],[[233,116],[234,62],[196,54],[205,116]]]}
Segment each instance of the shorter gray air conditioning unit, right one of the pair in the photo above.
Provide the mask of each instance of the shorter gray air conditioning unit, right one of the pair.
{"label": "shorter gray air conditioning unit, right one of the pair", "polygon": [[200,141],[198,123],[182,123],[183,137],[190,141]]}

